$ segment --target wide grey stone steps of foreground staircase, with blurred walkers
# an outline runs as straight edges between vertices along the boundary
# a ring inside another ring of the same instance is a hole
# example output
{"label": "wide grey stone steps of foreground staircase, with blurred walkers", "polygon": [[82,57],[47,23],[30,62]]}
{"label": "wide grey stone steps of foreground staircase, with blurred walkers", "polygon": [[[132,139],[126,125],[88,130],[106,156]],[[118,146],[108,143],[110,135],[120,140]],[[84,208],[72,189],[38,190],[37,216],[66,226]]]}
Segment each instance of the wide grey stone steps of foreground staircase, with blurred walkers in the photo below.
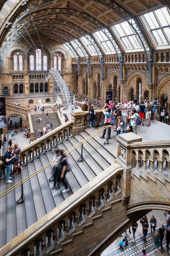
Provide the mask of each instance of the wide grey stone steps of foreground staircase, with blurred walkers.
{"label": "wide grey stone steps of foreground staircase, with blurred walkers", "polygon": [[[37,116],[35,115],[35,117]],[[66,151],[88,136],[88,132],[82,132],[74,138],[68,137],[67,140],[57,144],[57,147]],[[19,172],[12,178],[12,183],[6,183],[5,179],[0,180],[0,193],[49,163],[53,158],[55,148],[45,149],[37,158],[31,159],[24,166],[23,172]],[[53,182],[49,182],[52,169],[48,167],[23,184],[23,204],[16,204],[21,195],[20,187],[0,199],[2,206],[0,207],[0,248],[111,166],[115,159],[104,146],[94,139],[84,143],[83,162],[78,163],[80,155],[81,146],[67,155],[71,164],[71,171],[66,174],[69,192],[61,192],[62,183],[58,183],[53,191],[50,190],[53,186]]]}

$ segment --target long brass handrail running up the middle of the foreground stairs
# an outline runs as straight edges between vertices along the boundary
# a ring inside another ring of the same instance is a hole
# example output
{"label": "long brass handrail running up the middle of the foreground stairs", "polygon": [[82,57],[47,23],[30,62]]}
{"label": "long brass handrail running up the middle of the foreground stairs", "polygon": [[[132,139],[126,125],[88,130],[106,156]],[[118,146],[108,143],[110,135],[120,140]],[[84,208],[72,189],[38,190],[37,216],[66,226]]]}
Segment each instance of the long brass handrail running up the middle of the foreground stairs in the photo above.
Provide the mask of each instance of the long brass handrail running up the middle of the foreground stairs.
{"label": "long brass handrail running up the middle of the foreground stairs", "polygon": [[[94,132],[94,134],[91,134],[90,136],[88,136],[86,139],[80,141],[78,144],[76,144],[75,146],[73,146],[72,148],[68,149],[67,151],[64,152],[64,154],[69,154],[71,151],[73,151],[74,149],[78,148],[80,145],[82,145],[83,143],[85,143],[86,141],[90,140],[91,138],[93,138],[95,135],[99,134],[101,131],[103,131],[106,128],[111,127],[111,125],[105,125],[104,127],[100,128],[98,131]],[[6,191],[4,191],[3,193],[0,194],[0,198],[2,198],[3,196],[7,195],[9,192],[11,192],[12,190],[16,189],[18,186],[20,186],[21,184],[25,183],[26,181],[30,180],[32,177],[34,177],[35,175],[39,174],[40,172],[42,172],[43,170],[45,170],[46,168],[48,168],[49,166],[51,166],[53,161],[47,163],[45,166],[42,166],[39,170],[37,170],[36,172],[33,172],[32,174],[30,174],[29,176],[27,176],[26,178],[24,178],[23,180],[20,180],[17,184],[15,184],[14,186],[11,186],[11,188],[7,189]]]}

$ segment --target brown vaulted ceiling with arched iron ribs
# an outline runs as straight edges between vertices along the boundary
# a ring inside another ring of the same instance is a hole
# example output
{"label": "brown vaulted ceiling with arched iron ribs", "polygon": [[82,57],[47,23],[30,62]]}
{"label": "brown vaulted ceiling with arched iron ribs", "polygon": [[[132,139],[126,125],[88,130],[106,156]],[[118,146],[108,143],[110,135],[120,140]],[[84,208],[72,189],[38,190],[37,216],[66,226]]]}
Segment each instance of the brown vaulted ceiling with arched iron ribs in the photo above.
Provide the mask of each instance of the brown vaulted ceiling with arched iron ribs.
{"label": "brown vaulted ceiling with arched iron ribs", "polygon": [[[66,43],[83,35],[91,35],[103,28],[110,31],[112,44],[114,43],[117,47],[116,43],[119,44],[119,42],[110,27],[122,21],[127,21],[130,26],[132,24],[133,29],[138,28],[137,33],[142,32],[142,37],[147,41],[140,16],[165,5],[170,7],[168,0],[1,1],[1,55],[12,44],[29,35],[44,35],[59,43]],[[153,48],[150,40],[146,44],[147,47],[150,44],[149,49]],[[123,47],[119,44],[118,48],[121,50]]]}

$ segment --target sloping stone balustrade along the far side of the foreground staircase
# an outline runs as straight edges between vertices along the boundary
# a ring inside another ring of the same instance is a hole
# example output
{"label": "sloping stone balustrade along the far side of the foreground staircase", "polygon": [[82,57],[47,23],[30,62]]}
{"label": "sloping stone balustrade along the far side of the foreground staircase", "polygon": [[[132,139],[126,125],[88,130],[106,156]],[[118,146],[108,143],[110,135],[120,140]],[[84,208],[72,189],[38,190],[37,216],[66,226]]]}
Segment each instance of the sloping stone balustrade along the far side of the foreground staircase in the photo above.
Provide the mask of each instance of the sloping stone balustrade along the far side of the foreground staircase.
{"label": "sloping stone balustrade along the far side of the foreground staircase", "polygon": [[[23,148],[21,151],[22,165],[25,165],[40,154],[43,154],[44,151],[55,147],[57,144],[62,143],[63,140],[67,140],[68,137],[71,137],[73,125],[73,121],[68,121]],[[5,169],[5,164],[0,161],[0,179],[5,178]]]}

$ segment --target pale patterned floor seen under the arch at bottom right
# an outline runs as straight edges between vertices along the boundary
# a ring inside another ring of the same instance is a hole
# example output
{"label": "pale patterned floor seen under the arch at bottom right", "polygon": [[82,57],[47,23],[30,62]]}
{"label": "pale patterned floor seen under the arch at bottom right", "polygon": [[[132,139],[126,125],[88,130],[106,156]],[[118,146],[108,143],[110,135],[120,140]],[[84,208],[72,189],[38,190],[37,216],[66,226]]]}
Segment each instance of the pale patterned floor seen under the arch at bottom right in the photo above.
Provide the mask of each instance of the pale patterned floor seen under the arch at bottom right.
{"label": "pale patterned floor seen under the arch at bottom right", "polygon": [[[157,220],[157,226],[156,229],[161,227],[162,224],[165,224],[166,218],[164,216],[164,211],[160,210],[152,210],[147,214],[147,219],[150,221],[151,216],[154,215]],[[159,254],[161,255],[167,255],[167,249],[165,240],[163,242],[163,253],[157,253],[156,250],[153,247],[153,236],[150,231],[150,227],[148,229],[148,235],[147,235],[147,242],[144,243],[143,241],[143,235],[142,235],[142,225],[140,221],[137,221],[138,228],[136,230],[136,242],[133,243],[133,236],[129,233],[129,230],[126,231],[126,233],[122,234],[122,237],[119,237],[116,239],[105,251],[101,253],[101,256],[141,256],[142,255],[142,249],[145,249],[147,252],[147,256],[154,255],[157,256]],[[132,233],[132,229],[131,229]],[[129,241],[129,244],[124,247],[124,250],[119,248],[119,242],[124,239],[124,237],[127,236],[127,240]]]}

